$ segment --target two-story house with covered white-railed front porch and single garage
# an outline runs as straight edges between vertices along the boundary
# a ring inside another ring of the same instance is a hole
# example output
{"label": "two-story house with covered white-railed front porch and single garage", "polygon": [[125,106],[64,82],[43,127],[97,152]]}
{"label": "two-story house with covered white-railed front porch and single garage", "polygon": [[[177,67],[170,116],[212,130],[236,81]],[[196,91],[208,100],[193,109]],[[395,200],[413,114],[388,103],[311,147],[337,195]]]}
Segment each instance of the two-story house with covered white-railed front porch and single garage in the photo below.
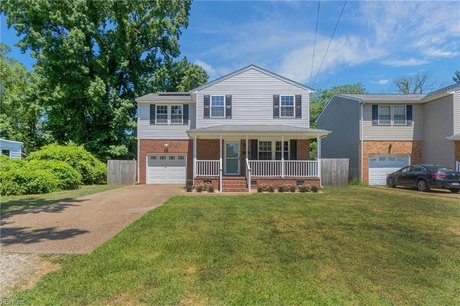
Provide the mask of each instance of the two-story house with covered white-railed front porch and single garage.
{"label": "two-story house with covered white-railed front porch and single garage", "polygon": [[139,183],[319,184],[309,139],[328,132],[310,128],[312,92],[250,65],[190,92],[136,99]]}

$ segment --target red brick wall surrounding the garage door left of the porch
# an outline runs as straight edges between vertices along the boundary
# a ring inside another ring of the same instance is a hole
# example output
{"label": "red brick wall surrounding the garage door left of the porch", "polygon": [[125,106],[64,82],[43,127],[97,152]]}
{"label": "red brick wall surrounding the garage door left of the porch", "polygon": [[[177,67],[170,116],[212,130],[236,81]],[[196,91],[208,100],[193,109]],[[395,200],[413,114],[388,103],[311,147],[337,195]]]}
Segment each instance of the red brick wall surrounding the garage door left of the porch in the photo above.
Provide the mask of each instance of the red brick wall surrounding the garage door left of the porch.
{"label": "red brick wall surrounding the garage door left of the porch", "polygon": [[[168,148],[165,148],[168,144]],[[193,176],[193,143],[191,140],[141,139],[139,141],[139,183],[146,183],[146,156],[149,153],[186,153],[187,179]]]}

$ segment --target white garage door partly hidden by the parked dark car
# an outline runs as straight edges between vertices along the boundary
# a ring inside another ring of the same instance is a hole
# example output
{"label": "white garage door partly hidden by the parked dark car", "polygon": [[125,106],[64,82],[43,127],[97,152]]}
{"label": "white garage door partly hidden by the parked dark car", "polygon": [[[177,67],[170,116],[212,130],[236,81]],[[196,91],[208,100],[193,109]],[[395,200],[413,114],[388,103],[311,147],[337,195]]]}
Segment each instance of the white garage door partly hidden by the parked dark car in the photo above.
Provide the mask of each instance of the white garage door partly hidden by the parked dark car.
{"label": "white garage door partly hidden by the parked dark car", "polygon": [[369,185],[385,185],[388,174],[409,164],[409,155],[370,155]]}

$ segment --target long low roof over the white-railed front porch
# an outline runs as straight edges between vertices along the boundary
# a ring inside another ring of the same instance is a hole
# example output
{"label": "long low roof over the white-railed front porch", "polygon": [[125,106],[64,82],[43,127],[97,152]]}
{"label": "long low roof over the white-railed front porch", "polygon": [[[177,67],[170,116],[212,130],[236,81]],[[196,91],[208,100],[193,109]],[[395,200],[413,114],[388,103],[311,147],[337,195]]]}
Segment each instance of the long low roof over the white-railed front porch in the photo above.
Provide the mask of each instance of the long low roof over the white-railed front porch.
{"label": "long low roof over the white-railed front porch", "polygon": [[316,138],[326,136],[330,131],[301,128],[290,125],[216,125],[188,130],[189,136],[295,136]]}

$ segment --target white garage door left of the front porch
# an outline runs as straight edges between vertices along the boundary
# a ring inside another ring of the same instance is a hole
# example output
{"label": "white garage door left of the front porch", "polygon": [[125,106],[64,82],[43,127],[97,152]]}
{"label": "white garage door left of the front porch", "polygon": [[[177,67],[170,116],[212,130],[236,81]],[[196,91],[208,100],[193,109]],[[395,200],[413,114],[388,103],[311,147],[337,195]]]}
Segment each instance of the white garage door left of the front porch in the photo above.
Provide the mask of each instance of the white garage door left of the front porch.
{"label": "white garage door left of the front porch", "polygon": [[185,154],[147,155],[147,184],[185,184]]}

